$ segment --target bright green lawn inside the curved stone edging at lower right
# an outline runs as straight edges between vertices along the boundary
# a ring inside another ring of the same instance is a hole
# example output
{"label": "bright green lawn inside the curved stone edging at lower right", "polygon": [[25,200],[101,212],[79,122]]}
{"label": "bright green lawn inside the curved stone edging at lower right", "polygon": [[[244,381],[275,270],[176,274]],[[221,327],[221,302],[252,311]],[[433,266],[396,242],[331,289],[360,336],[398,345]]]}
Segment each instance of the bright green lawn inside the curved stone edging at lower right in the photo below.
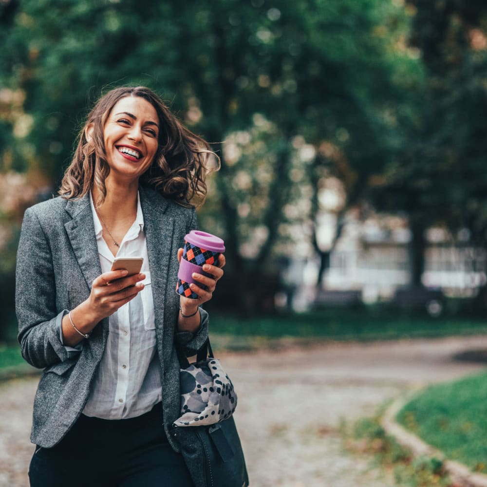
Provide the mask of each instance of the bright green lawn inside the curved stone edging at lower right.
{"label": "bright green lawn inside the curved stone edging at lower right", "polygon": [[451,460],[487,472],[487,371],[426,389],[397,419]]}

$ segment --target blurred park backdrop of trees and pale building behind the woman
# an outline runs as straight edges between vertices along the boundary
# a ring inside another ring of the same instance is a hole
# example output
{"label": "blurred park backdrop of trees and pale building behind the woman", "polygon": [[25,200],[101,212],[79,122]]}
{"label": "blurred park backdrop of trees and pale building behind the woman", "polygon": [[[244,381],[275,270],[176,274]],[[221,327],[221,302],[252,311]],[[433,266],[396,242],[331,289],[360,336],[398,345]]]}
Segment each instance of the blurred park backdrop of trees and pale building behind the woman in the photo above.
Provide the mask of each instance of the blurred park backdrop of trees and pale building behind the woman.
{"label": "blurred park backdrop of trees and pale building behind the woman", "polygon": [[0,341],[23,211],[122,84],[221,158],[198,211],[227,249],[216,331],[481,330],[486,34],[480,0],[0,0]]}

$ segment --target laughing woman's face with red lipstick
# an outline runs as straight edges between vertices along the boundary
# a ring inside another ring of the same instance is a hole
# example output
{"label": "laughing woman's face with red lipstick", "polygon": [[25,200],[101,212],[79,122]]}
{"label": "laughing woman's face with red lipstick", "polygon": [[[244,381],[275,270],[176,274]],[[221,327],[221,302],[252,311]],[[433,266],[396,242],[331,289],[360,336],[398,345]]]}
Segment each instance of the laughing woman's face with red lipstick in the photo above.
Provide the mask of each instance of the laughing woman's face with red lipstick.
{"label": "laughing woman's face with red lipstick", "polygon": [[103,128],[110,177],[131,182],[150,167],[157,152],[159,117],[144,98],[126,96],[115,103]]}

